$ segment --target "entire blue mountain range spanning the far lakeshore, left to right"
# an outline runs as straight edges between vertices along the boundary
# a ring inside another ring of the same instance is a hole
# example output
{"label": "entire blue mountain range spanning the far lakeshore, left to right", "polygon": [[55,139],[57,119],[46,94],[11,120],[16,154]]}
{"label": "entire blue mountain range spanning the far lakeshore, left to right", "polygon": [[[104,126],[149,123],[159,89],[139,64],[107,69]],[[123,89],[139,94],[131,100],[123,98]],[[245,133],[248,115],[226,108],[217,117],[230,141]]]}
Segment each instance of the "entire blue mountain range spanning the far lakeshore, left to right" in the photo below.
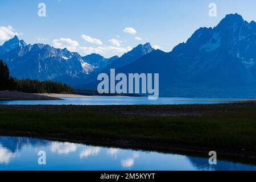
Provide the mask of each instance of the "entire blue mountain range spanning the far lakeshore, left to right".
{"label": "entire blue mountain range spanning the far lakeshore, left to right", "polygon": [[99,72],[159,73],[160,96],[256,97],[256,23],[226,15],[199,28],[171,52],[139,45],[121,57],[81,57],[67,49],[27,45],[17,37],[0,47],[14,77],[57,80],[96,89]]}

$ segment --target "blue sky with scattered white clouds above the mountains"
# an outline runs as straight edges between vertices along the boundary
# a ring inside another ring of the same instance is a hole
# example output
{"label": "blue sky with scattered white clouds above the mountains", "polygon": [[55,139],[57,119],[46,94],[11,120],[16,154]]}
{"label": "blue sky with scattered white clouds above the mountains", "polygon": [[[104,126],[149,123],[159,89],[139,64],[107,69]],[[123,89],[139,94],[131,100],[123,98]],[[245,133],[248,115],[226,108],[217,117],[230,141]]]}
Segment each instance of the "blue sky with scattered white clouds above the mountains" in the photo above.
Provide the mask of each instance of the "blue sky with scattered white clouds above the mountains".
{"label": "blue sky with scattered white clouds above the mountains", "polygon": [[[38,16],[41,2],[46,4],[46,17]],[[216,17],[208,15],[211,2],[217,5]],[[255,7],[254,0],[1,1],[0,44],[17,34],[27,43],[67,47],[81,55],[120,56],[147,42],[170,52],[197,28],[214,27],[226,14],[256,20]]]}

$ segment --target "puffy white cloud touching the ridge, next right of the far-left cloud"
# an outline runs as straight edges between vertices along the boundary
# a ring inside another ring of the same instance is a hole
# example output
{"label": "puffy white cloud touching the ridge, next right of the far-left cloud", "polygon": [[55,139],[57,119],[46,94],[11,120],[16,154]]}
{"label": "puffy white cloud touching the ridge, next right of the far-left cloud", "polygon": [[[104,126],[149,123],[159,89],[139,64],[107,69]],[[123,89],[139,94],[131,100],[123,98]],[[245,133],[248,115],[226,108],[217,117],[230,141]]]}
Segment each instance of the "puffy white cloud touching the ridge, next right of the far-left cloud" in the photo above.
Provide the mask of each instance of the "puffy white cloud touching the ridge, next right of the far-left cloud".
{"label": "puffy white cloud touching the ridge, next right of the far-left cloud", "polygon": [[54,39],[52,43],[53,43],[53,47],[60,48],[60,49],[67,48],[71,52],[76,52],[77,49],[79,48],[79,43],[69,38]]}

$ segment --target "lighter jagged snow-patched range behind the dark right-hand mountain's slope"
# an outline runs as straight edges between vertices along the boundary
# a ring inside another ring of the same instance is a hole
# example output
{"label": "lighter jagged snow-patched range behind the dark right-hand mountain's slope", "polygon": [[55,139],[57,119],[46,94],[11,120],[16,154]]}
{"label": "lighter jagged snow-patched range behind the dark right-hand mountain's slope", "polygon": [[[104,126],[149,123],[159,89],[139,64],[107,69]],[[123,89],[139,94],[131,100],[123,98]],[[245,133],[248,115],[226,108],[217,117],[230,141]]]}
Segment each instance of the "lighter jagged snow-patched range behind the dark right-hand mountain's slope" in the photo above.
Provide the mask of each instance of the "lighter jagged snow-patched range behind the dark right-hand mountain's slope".
{"label": "lighter jagged snow-patched range behind the dark right-hand mountain's slope", "polygon": [[[91,73],[102,71],[109,64],[115,67],[127,65],[153,49],[150,44],[139,45],[121,58],[106,59],[91,54],[81,57],[77,52],[57,49],[46,44],[26,44],[17,36],[0,46],[0,59],[3,59],[11,76],[38,80],[52,80],[69,85],[84,84]],[[118,61],[117,61],[118,60]]]}

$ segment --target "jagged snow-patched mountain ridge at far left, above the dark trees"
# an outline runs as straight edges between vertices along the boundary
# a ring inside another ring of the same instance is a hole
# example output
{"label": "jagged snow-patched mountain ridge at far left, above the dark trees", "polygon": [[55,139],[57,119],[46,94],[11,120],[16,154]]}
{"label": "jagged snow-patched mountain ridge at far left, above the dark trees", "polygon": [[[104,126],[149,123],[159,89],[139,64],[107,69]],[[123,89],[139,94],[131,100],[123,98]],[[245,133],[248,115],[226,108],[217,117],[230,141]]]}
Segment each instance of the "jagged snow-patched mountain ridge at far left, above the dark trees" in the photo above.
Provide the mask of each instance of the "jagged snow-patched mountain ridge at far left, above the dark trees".
{"label": "jagged snow-patched mountain ridge at far left, above the dark trees", "polygon": [[[47,44],[26,44],[17,36],[0,47],[13,77],[53,80],[73,85],[94,71],[79,53],[57,49]],[[73,80],[73,81],[72,81]]]}

